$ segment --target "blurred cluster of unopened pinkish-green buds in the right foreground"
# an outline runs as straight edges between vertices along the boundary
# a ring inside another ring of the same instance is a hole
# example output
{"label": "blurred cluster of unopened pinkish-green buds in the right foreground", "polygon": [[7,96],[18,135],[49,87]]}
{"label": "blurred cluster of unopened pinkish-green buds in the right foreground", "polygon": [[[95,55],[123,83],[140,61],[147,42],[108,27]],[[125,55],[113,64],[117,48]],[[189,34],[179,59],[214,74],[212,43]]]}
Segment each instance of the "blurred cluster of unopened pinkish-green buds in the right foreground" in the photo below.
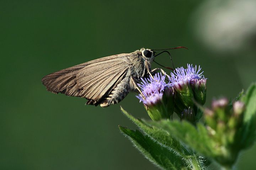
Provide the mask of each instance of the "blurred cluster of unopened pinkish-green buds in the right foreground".
{"label": "blurred cluster of unopened pinkish-green buds in the right foreground", "polygon": [[239,151],[250,143],[250,137],[245,140],[244,115],[245,103],[242,101],[230,103],[227,98],[213,100],[212,108],[204,109],[206,129],[215,143],[214,149],[222,153],[215,155],[215,160],[221,164],[234,163]]}

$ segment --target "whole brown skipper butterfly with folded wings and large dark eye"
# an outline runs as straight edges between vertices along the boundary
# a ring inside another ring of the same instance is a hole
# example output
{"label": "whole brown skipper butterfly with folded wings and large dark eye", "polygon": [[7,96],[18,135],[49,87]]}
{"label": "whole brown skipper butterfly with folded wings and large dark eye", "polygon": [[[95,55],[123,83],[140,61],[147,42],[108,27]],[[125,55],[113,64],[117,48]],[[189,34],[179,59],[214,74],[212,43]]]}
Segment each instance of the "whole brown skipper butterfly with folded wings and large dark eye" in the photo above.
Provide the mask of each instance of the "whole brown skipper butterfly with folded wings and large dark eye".
{"label": "whole brown skipper butterfly with folded wings and large dark eye", "polygon": [[119,103],[129,92],[138,92],[140,78],[149,76],[154,51],[140,49],[99,58],[46,75],[48,91],[88,99],[86,104],[107,107]]}

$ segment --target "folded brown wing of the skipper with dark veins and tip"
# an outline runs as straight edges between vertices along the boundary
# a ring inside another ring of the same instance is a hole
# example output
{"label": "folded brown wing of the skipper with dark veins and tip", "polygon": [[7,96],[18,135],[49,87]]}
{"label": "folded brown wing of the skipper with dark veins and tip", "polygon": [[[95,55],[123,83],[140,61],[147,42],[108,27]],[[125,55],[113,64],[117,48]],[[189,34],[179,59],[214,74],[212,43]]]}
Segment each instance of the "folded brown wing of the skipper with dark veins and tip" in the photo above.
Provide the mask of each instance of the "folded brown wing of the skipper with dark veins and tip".
{"label": "folded brown wing of the skipper with dark veins and tip", "polygon": [[48,91],[85,97],[87,104],[98,105],[125,77],[129,55],[119,54],[89,61],[49,74],[42,79]]}

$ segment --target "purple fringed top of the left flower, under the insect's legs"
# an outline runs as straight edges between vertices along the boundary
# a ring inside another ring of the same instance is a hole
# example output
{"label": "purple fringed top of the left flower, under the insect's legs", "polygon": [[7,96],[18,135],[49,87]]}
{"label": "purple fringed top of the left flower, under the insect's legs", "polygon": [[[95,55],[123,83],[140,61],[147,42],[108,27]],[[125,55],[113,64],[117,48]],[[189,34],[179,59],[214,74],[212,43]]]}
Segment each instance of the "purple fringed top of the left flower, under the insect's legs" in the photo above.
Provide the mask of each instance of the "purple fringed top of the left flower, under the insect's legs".
{"label": "purple fringed top of the left flower, under the insect's legs", "polygon": [[[153,78],[142,78],[142,83],[138,84],[140,89],[142,90],[139,96],[140,102],[142,101],[146,106],[150,106],[152,104],[156,104],[158,101],[162,99],[164,89],[170,86],[170,83],[165,82],[165,75],[155,74]],[[145,98],[144,98],[145,97]]]}

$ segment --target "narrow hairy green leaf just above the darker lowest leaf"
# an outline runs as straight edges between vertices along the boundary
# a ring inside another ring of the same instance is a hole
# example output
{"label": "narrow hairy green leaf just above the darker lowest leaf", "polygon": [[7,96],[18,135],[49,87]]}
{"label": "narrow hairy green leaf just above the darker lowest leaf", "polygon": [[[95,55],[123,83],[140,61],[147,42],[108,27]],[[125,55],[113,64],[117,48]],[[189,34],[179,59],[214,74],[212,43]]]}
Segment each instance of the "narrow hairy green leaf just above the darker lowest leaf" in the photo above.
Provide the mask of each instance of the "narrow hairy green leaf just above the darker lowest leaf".
{"label": "narrow hairy green leaf just above the darker lowest leaf", "polygon": [[181,145],[180,142],[172,138],[170,133],[167,131],[151,126],[148,122],[142,119],[136,119],[129,113],[127,113],[122,107],[122,112],[136,124],[140,130],[142,130],[147,137],[151,140],[156,141],[161,147],[166,148],[169,152],[178,155],[179,159],[182,159],[183,165],[190,167],[190,169],[201,169],[203,167],[203,157],[199,157],[187,147]]}

